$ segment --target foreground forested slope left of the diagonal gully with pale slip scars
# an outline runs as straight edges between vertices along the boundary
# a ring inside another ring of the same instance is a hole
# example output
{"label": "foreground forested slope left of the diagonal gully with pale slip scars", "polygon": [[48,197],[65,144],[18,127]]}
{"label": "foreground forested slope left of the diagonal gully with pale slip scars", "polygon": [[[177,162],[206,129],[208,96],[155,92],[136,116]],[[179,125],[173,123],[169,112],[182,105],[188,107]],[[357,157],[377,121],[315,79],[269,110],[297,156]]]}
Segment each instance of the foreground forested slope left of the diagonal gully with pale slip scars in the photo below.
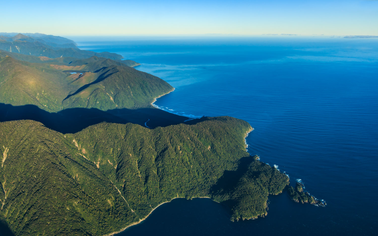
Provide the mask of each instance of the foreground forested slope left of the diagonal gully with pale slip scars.
{"label": "foreground forested slope left of the diagonal gully with pale slip scars", "polygon": [[72,140],[32,120],[0,127],[6,156],[0,214],[15,235],[90,235],[135,220],[112,182],[79,158]]}

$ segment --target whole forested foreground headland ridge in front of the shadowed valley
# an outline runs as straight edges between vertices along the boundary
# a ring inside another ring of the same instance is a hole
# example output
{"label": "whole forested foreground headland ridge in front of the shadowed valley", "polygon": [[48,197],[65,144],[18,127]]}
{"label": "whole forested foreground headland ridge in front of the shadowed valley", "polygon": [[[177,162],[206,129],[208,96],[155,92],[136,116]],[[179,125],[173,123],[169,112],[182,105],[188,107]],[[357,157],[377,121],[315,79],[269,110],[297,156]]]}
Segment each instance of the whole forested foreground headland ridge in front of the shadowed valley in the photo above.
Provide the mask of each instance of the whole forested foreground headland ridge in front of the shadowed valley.
{"label": "whole forested foreground headland ridge in front of the shadowed valley", "polygon": [[[250,129],[231,117],[153,130],[100,123],[65,135],[31,120],[0,123],[0,215],[16,235],[102,235],[174,197],[212,197],[232,219],[264,215],[268,193],[288,178],[248,157]],[[237,186],[214,192],[243,157],[250,164]]]}

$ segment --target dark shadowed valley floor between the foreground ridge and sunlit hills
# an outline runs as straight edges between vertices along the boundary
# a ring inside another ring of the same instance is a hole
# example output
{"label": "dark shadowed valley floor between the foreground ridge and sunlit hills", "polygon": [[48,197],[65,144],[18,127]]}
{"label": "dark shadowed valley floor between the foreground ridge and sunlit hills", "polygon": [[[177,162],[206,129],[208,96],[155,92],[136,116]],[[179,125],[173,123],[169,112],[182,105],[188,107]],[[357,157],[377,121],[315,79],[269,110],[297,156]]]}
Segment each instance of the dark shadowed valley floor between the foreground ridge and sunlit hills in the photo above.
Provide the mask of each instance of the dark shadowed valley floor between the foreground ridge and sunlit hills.
{"label": "dark shadowed valley floor between the foreground ridge and sunlit hills", "polygon": [[[60,133],[76,133],[90,125],[101,122],[134,123],[149,128],[177,125],[187,120],[157,108],[114,109],[101,111],[96,108],[68,108],[57,113],[49,113],[36,105],[12,106],[0,103],[0,122],[10,120],[36,120]],[[191,124],[204,119],[191,120]],[[147,122],[147,123],[146,123]],[[187,123],[187,122],[185,122]]]}

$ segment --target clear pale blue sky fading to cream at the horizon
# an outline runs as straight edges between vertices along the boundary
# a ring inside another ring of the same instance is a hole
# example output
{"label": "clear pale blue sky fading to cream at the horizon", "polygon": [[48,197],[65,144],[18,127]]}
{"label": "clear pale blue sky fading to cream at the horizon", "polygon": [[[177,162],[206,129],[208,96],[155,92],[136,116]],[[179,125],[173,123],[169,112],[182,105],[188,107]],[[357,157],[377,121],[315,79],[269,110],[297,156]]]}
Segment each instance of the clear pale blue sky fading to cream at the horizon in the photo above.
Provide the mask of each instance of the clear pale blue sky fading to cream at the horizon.
{"label": "clear pale blue sky fading to cream at the horizon", "polygon": [[0,6],[0,32],[378,35],[378,0],[0,0]]}

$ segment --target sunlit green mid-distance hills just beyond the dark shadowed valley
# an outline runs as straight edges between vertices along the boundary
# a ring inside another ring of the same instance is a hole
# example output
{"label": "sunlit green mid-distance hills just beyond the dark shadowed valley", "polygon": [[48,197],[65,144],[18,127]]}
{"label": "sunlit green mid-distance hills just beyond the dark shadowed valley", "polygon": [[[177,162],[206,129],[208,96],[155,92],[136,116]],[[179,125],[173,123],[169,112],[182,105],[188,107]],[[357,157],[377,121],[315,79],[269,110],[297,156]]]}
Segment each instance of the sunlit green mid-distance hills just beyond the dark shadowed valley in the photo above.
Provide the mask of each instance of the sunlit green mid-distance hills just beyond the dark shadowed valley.
{"label": "sunlit green mid-distance hills just beyond the dark shadowed valley", "polygon": [[0,55],[0,102],[11,105],[33,104],[52,112],[74,107],[137,108],[149,106],[172,89],[158,77],[110,59],[76,59],[67,66]]}

